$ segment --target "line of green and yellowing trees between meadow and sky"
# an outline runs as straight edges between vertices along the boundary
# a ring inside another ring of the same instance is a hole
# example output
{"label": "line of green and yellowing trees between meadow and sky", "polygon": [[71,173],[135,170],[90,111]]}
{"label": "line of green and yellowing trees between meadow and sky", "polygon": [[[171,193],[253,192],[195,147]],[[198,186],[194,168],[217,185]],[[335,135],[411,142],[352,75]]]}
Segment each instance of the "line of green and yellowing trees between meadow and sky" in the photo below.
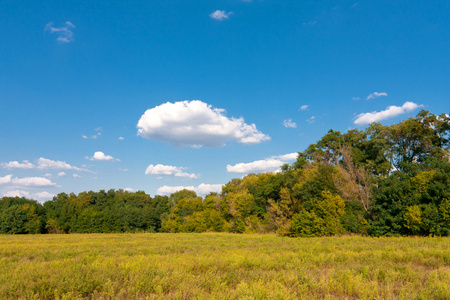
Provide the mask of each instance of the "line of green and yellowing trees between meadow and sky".
{"label": "line of green and yellowing trees between meadow and sky", "polygon": [[450,117],[330,130],[278,173],[220,194],[182,190],[60,193],[43,205],[0,200],[0,233],[235,232],[309,237],[450,235]]}

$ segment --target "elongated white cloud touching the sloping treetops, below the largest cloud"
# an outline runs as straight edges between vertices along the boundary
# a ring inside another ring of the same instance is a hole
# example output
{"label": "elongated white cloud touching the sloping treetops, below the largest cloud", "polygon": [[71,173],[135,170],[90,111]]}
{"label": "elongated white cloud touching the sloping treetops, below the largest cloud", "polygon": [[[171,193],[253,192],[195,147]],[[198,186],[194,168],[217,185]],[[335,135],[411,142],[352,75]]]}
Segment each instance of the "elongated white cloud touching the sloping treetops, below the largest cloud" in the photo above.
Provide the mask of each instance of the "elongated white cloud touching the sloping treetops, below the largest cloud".
{"label": "elongated white cloud touching the sloping treetops, below the largest cloud", "polygon": [[271,156],[266,159],[256,160],[250,163],[238,163],[234,166],[227,165],[227,172],[229,173],[260,173],[260,172],[279,172],[281,166],[297,159],[298,153],[289,153],[278,156]]}

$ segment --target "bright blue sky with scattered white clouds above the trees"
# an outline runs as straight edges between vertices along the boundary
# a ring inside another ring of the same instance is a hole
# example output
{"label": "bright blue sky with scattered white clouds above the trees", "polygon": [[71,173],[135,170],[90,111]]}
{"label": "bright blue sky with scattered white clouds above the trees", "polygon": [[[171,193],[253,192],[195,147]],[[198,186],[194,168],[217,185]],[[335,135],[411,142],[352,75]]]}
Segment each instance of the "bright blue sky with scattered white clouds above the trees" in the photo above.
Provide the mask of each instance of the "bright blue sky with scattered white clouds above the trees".
{"label": "bright blue sky with scattered white clouds above the trees", "polygon": [[0,1],[0,197],[199,194],[449,112],[448,1]]}

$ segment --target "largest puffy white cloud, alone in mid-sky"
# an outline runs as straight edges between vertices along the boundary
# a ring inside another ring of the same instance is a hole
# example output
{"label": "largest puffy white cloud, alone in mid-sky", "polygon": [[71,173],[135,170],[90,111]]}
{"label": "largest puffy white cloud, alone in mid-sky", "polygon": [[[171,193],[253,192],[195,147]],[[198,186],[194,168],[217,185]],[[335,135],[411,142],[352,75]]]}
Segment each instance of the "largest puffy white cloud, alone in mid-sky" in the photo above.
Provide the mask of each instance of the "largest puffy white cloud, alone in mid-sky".
{"label": "largest puffy white cloud, alone in mid-sky", "polygon": [[138,135],[177,147],[219,147],[228,140],[257,144],[270,137],[246,124],[243,118],[227,118],[225,110],[200,100],[164,103],[148,109],[140,118]]}

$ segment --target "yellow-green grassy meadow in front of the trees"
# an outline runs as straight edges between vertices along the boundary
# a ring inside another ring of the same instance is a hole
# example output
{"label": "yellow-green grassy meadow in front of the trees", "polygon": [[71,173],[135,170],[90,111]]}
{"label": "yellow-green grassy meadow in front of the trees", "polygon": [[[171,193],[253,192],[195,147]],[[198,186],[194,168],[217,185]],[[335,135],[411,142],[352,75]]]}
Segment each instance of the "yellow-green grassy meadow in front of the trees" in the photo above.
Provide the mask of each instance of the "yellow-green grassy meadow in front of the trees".
{"label": "yellow-green grassy meadow in front of the trees", "polygon": [[0,236],[0,299],[450,299],[449,238]]}

